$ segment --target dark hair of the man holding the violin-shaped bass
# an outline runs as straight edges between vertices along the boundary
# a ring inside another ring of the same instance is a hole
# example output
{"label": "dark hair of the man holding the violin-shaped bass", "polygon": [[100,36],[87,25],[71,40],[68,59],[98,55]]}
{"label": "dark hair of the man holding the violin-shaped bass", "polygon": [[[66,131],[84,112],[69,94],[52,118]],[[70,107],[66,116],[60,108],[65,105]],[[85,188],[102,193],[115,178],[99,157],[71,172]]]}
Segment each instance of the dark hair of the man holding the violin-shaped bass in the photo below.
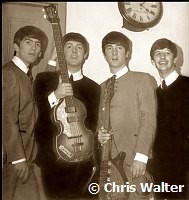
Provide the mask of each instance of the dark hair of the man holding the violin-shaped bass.
{"label": "dark hair of the man holding the violin-shaped bass", "polygon": [[81,35],[80,33],[74,33],[74,32],[67,33],[62,38],[63,46],[68,41],[80,42],[83,45],[84,51],[85,51],[85,53],[87,53],[87,57],[88,57],[88,55],[89,55],[89,43],[83,35]]}

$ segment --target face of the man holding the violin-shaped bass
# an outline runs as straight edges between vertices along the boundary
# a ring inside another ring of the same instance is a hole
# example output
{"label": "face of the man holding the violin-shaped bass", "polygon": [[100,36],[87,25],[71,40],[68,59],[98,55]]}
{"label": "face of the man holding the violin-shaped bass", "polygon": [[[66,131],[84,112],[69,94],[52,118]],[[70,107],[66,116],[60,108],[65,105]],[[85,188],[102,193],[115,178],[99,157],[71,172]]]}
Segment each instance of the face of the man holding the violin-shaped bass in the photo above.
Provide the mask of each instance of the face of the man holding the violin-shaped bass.
{"label": "face of the man holding the violin-shaped bass", "polygon": [[65,43],[64,55],[68,68],[74,67],[75,69],[81,69],[87,57],[87,53],[85,53],[83,44],[77,41],[68,41]]}

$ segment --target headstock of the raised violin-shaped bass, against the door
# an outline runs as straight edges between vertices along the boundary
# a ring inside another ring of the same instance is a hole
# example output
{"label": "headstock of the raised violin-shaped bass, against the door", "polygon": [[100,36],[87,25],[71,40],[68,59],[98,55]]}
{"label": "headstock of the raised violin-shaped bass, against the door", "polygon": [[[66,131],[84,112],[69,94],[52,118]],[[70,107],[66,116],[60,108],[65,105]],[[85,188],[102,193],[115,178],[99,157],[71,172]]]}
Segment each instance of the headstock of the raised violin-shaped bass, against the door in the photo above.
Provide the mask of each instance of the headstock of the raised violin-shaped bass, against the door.
{"label": "headstock of the raised violin-shaped bass, against the door", "polygon": [[44,11],[46,15],[44,17],[50,21],[51,23],[59,22],[58,12],[56,10],[56,6],[54,4],[50,4],[49,6],[44,6]]}

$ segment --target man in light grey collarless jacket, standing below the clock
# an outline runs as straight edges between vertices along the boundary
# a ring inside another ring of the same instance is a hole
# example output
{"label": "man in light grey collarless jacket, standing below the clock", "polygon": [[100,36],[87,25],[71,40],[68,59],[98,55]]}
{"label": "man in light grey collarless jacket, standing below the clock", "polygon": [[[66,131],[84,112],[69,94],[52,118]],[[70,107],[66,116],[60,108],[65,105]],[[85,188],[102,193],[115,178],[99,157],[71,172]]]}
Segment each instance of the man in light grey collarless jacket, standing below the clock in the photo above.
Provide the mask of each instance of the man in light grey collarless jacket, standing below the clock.
{"label": "man in light grey collarless jacket, standing below the clock", "polygon": [[[140,181],[149,178],[144,175],[156,129],[156,81],[147,73],[130,71],[131,45],[127,36],[116,31],[108,33],[102,40],[102,51],[111,76],[116,77],[110,102],[110,130],[103,124],[109,80],[101,85],[98,139],[101,145],[111,139],[111,158],[120,152],[126,153],[124,172],[130,185],[139,186]],[[137,192],[129,194],[129,200],[141,198]]]}

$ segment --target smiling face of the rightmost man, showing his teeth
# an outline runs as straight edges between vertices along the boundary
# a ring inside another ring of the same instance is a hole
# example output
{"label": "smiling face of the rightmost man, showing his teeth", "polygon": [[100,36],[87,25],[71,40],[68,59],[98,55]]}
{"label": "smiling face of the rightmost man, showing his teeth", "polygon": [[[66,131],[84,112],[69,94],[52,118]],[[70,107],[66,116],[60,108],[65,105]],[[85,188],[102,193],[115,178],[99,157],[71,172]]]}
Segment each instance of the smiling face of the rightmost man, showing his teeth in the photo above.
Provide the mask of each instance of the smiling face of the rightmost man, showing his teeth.
{"label": "smiling face of the rightmost man, showing his teeth", "polygon": [[156,66],[160,73],[170,74],[175,69],[176,58],[168,48],[157,49],[154,52],[152,64]]}

